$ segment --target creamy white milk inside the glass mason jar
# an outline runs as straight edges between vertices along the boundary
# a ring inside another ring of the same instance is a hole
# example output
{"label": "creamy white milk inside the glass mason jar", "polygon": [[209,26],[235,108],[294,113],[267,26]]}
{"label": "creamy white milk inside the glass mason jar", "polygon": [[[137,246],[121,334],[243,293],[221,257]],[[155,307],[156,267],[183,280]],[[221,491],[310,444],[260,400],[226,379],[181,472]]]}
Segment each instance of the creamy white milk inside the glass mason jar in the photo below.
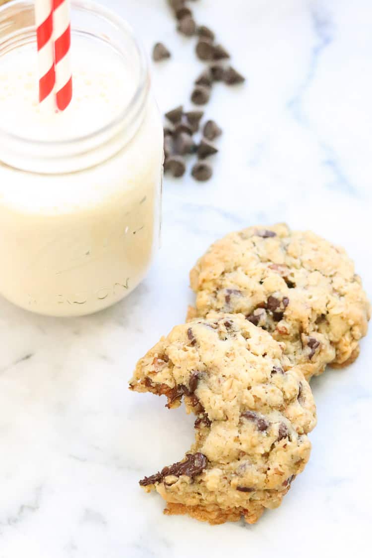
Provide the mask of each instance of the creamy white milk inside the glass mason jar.
{"label": "creamy white milk inside the glass mason jar", "polygon": [[[75,44],[73,55],[74,98],[59,114],[37,103],[33,46],[0,56],[1,132],[69,141],[122,113],[137,84],[119,56],[93,42]],[[152,98],[141,118],[127,145],[75,172],[24,171],[22,156],[8,160],[0,140],[1,295],[72,316],[113,304],[142,280],[160,226],[162,126]]]}

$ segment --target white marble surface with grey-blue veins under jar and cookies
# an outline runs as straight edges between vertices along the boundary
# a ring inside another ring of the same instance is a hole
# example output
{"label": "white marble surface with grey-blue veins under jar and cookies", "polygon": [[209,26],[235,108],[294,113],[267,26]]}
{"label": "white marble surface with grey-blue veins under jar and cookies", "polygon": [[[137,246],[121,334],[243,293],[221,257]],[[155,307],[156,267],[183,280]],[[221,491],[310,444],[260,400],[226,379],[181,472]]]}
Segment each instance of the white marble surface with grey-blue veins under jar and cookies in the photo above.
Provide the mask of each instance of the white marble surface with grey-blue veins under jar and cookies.
{"label": "white marble surface with grey-blue veins under jar and cookies", "polygon": [[[200,66],[165,0],[105,0],[148,49],[162,109],[186,100]],[[192,421],[128,392],[133,365],[183,320],[188,271],[209,243],[286,220],[343,244],[372,294],[372,34],[369,0],[200,0],[248,77],[216,87],[224,128],[215,177],[166,180],[163,246],[144,283],[88,318],[42,318],[0,301],[0,557],[367,556],[371,525],[369,339],[354,365],[312,382],[318,426],[305,472],[255,526],[166,517],[137,481],[178,460]],[[227,9],[227,7],[229,9]],[[181,48],[182,47],[182,48]]]}

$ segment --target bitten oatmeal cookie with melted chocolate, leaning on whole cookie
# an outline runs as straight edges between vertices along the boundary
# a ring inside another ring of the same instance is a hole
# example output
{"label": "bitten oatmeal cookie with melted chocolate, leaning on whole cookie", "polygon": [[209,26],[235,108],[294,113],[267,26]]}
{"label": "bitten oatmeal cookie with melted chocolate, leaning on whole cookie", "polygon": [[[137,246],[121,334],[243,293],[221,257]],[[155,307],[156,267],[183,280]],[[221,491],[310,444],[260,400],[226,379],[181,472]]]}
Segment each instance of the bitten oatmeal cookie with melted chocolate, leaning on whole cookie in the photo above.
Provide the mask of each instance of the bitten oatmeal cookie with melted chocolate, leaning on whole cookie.
{"label": "bitten oatmeal cookie with melted chocolate, leaning on whole cookie", "polygon": [[139,483],[165,513],[254,523],[279,506],[316,424],[310,386],[283,348],[245,316],[218,314],[176,326],[139,360],[131,389],[165,395],[169,408],[184,398],[196,415],[185,458]]}

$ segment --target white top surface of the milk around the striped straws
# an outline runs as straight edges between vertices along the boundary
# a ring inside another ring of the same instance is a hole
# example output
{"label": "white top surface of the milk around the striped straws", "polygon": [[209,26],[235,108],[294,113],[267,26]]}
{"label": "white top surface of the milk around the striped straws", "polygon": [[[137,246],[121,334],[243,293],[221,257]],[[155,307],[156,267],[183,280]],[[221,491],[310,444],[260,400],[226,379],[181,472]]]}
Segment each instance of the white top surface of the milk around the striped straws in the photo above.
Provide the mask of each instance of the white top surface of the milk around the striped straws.
{"label": "white top surface of the milk around the striped straws", "polygon": [[0,57],[0,128],[40,141],[69,140],[106,126],[119,116],[136,89],[136,75],[113,49],[102,52],[75,41],[72,51],[73,100],[64,112],[38,103],[36,47]]}

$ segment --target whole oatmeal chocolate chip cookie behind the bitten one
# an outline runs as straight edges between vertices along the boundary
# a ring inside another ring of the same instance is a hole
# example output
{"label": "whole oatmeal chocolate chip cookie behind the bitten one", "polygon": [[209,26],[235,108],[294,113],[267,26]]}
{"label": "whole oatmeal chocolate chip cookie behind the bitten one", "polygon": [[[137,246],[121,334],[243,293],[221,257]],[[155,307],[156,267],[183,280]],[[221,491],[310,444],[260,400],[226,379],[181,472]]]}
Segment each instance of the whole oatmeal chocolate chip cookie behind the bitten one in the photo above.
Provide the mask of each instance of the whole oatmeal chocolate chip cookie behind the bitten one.
{"label": "whole oatmeal chocolate chip cookie behind the bitten one", "polygon": [[190,273],[196,307],[241,312],[286,344],[307,379],[326,364],[351,363],[366,334],[370,305],[344,249],[285,224],[250,227],[209,248]]}

